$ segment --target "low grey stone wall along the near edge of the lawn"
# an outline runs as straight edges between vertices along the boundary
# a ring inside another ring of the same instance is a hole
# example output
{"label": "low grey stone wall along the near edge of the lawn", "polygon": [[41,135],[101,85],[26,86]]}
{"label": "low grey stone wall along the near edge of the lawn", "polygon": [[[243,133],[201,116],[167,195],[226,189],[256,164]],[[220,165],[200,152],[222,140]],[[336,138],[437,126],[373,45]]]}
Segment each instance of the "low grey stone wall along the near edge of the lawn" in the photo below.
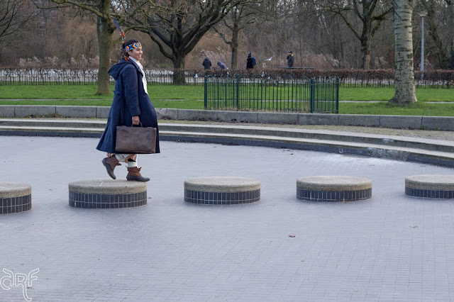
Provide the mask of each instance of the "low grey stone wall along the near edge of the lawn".
{"label": "low grey stone wall along the near edge of the lawn", "polygon": [[[28,106],[0,105],[0,117],[59,115],[67,118],[108,118],[108,106]],[[157,118],[189,121],[245,123],[282,123],[297,125],[362,125],[368,127],[408,128],[454,131],[450,116],[373,116],[323,113],[275,113],[253,111],[214,111],[156,108]]]}

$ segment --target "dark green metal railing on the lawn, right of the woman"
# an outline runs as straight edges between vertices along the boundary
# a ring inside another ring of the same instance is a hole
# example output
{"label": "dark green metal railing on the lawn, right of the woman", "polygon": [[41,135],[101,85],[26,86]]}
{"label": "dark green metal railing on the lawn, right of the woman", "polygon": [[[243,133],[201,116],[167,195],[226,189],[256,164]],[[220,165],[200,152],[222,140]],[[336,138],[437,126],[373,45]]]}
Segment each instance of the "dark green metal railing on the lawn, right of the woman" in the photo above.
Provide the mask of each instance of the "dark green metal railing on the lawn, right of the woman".
{"label": "dark green metal railing on the lawn, right of the woman", "polygon": [[211,110],[339,112],[339,78],[205,76],[204,107]]}

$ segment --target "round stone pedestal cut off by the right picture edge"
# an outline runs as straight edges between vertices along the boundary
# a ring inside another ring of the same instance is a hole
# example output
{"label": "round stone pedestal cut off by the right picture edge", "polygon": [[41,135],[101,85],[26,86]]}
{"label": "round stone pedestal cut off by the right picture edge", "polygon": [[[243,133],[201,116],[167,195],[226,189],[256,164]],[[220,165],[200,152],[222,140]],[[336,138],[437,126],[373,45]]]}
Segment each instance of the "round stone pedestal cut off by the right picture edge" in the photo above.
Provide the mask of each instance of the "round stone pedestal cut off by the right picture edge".
{"label": "round stone pedestal cut off by the right picture edge", "polygon": [[413,175],[405,179],[405,194],[422,198],[454,198],[454,175]]}

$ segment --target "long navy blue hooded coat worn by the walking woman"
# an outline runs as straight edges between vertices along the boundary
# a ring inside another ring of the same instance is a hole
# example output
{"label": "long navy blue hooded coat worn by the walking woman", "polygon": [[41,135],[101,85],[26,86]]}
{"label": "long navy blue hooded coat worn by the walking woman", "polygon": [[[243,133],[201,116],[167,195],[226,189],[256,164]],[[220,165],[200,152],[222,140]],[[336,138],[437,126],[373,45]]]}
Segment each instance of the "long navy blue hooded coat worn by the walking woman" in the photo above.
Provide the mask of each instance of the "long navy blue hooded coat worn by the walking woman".
{"label": "long navy blue hooded coat worn by the walking woman", "polygon": [[[121,59],[110,70],[109,74],[115,79],[115,94],[106,129],[96,149],[115,153],[116,126],[133,124],[132,117],[139,116],[143,127],[153,127],[157,130],[155,107],[145,94],[140,68],[132,60]],[[159,130],[156,135],[156,153],[159,148]]]}

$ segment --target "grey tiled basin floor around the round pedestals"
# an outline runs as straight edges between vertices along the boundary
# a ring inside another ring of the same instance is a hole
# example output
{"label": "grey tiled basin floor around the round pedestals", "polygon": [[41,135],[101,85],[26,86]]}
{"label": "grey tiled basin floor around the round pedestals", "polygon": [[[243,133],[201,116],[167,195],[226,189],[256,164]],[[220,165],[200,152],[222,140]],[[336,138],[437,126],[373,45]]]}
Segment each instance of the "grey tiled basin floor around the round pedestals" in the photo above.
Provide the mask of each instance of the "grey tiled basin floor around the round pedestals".
{"label": "grey tiled basin floor around the round pedestals", "polygon": [[[409,175],[453,169],[162,142],[160,155],[139,157],[151,177],[146,206],[72,208],[71,181],[107,177],[97,142],[0,136],[0,181],[31,184],[33,204],[0,216],[0,267],[39,268],[27,289],[33,301],[454,300],[454,200],[404,195]],[[126,168],[116,175],[126,177]],[[261,200],[185,203],[184,180],[211,175],[258,179]],[[371,179],[372,198],[298,200],[297,179],[316,175]],[[0,301],[24,301],[21,287],[0,288]]]}

